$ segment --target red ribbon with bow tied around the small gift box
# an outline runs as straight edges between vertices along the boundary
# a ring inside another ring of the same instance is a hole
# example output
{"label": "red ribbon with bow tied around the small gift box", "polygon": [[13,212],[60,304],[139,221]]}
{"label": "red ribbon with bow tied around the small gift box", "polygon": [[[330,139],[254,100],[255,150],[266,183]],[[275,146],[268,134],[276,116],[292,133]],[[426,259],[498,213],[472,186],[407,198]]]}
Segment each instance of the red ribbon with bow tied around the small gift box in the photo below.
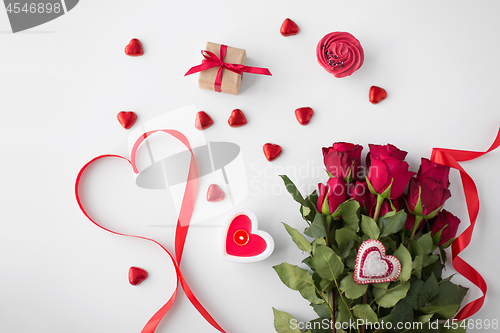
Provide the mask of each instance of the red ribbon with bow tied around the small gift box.
{"label": "red ribbon with bow tied around the small gift box", "polygon": [[224,57],[226,56],[227,45],[220,46],[220,59],[214,53],[210,51],[201,51],[201,54],[205,58],[201,65],[191,67],[190,70],[184,76],[191,75],[194,73],[198,73],[210,68],[219,67],[219,71],[217,72],[217,76],[215,77],[214,89],[217,92],[221,92],[221,84],[222,84],[222,70],[228,69],[231,72],[235,72],[236,74],[243,75],[243,73],[251,73],[251,74],[260,74],[260,75],[272,75],[269,69],[261,68],[261,67],[249,67],[239,64],[228,64],[224,62]]}

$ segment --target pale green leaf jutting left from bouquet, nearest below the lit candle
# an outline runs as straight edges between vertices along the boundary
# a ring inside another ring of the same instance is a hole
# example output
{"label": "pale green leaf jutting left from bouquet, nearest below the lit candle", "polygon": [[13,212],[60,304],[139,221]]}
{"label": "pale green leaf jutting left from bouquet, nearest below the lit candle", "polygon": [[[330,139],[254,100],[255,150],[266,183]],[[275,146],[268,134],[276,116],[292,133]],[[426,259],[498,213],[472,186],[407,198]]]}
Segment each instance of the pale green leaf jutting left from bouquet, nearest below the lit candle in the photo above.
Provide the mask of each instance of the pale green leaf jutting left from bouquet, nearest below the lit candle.
{"label": "pale green leaf jutting left from bouquet, nearest below the lit candle", "polygon": [[290,265],[286,262],[273,267],[281,281],[290,289],[300,292],[302,297],[314,304],[321,304],[321,300],[316,295],[316,286],[312,276],[305,269]]}

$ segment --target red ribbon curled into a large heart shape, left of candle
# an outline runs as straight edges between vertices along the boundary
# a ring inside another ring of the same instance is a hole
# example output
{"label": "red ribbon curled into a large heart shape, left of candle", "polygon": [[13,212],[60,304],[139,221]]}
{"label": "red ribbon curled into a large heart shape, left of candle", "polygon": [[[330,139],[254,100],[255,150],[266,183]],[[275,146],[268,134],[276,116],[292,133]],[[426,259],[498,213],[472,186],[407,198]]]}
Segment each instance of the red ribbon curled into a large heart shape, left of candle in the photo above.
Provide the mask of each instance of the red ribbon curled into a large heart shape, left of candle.
{"label": "red ribbon curled into a large heart shape, left of candle", "polygon": [[[101,226],[99,223],[97,223],[95,220],[93,220],[87,214],[87,212],[85,211],[85,208],[83,207],[83,204],[80,200],[80,195],[79,195],[80,179],[82,177],[83,172],[87,169],[87,167],[89,165],[91,165],[92,163],[94,163],[95,161],[97,161],[99,159],[108,158],[108,157],[116,157],[116,158],[123,159],[123,160],[130,163],[134,173],[136,173],[136,174],[139,173],[139,171],[137,170],[136,163],[135,163],[135,156],[136,156],[137,149],[139,148],[140,144],[149,135],[156,133],[156,132],[164,132],[164,133],[172,135],[177,140],[181,141],[186,146],[186,148],[189,149],[189,151],[191,153],[191,162],[189,165],[189,174],[188,174],[188,180],[187,180],[187,184],[186,184],[186,190],[184,192],[184,198],[182,200],[181,210],[179,213],[179,218],[177,220],[177,228],[175,231],[175,257],[163,245],[161,245],[160,243],[158,243],[157,241],[155,241],[153,239],[142,237],[142,236],[122,234],[122,233],[119,233],[119,232],[116,232],[116,231],[113,231],[113,230],[110,230],[110,229],[107,229],[107,228]],[[208,313],[208,311],[205,310],[205,308],[201,305],[201,303],[198,301],[198,299],[194,296],[193,292],[191,291],[188,284],[186,283],[186,280],[184,280],[184,277],[182,276],[182,273],[181,273],[181,270],[179,267],[180,262],[181,262],[181,258],[182,258],[182,250],[184,249],[184,243],[186,241],[186,236],[187,236],[187,232],[189,229],[189,222],[190,222],[191,216],[193,214],[193,208],[194,208],[194,204],[196,201],[197,191],[198,191],[198,168],[196,166],[196,160],[194,158],[193,151],[191,149],[191,145],[189,144],[188,139],[182,133],[175,131],[175,130],[155,130],[155,131],[146,132],[135,142],[135,144],[132,148],[130,160],[128,160],[127,158],[125,158],[123,156],[119,156],[119,155],[110,155],[110,154],[101,155],[101,156],[95,157],[94,159],[89,161],[87,164],[85,164],[83,166],[83,168],[80,170],[80,172],[78,173],[78,176],[76,178],[76,183],[75,183],[76,201],[78,202],[78,206],[82,210],[83,214],[85,214],[85,216],[90,221],[92,221],[92,223],[94,223],[99,228],[106,230],[110,233],[113,233],[115,235],[134,237],[134,238],[144,239],[144,240],[153,242],[156,245],[158,245],[159,247],[161,247],[169,255],[170,259],[172,260],[172,263],[174,264],[175,272],[176,272],[176,276],[177,276],[177,284],[176,284],[175,290],[174,290],[173,294],[170,296],[168,302],[164,306],[162,306],[153,315],[153,317],[151,317],[151,319],[147,322],[146,326],[144,326],[141,333],[153,333],[155,331],[155,329],[158,326],[158,324],[160,323],[160,321],[167,314],[168,310],[171,308],[172,304],[174,303],[175,297],[177,296],[177,289],[178,289],[179,282],[180,282],[182,289],[184,290],[186,296],[191,301],[191,303],[194,305],[194,307],[198,310],[198,312],[203,316],[203,318],[205,318],[205,320],[207,320],[210,323],[210,325],[212,325],[219,332],[225,333],[225,331],[219,326],[219,324],[217,324],[217,322],[212,318],[212,316]]]}

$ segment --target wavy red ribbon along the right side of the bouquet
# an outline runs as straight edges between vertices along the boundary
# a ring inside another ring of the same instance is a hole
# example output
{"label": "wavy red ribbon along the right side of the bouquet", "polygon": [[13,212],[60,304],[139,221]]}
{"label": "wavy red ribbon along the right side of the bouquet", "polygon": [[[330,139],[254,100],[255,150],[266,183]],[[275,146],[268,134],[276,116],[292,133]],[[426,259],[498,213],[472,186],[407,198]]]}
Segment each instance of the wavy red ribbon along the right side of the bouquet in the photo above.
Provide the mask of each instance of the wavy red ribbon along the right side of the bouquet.
{"label": "wavy red ribbon along the right side of the bouquet", "polygon": [[460,171],[462,186],[465,193],[465,201],[467,203],[467,210],[469,212],[470,226],[465,229],[465,231],[460,234],[460,236],[457,237],[457,239],[451,246],[453,267],[455,267],[458,273],[462,274],[483,292],[483,296],[470,302],[469,304],[464,306],[462,310],[460,310],[460,312],[455,316],[457,320],[464,320],[478,312],[479,309],[481,309],[481,307],[483,306],[487,291],[486,282],[484,281],[481,274],[479,274],[471,265],[466,263],[462,258],[458,256],[460,252],[462,252],[463,250],[465,250],[465,248],[467,248],[467,246],[469,246],[472,238],[472,232],[474,231],[474,226],[476,225],[477,214],[479,212],[479,195],[477,192],[476,184],[458,162],[476,159],[498,148],[498,146],[500,146],[500,129],[495,141],[485,152],[445,148],[432,149],[432,161],[447,165]]}

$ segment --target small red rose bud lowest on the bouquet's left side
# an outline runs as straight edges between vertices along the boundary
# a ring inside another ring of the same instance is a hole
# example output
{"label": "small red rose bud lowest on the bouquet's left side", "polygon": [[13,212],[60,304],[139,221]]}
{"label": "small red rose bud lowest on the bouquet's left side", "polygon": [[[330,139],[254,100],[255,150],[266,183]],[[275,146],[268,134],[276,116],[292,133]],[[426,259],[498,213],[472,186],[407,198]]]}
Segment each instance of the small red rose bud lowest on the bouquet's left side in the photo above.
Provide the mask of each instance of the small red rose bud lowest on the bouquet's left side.
{"label": "small red rose bud lowest on the bouquet's left side", "polygon": [[347,183],[339,177],[328,179],[326,186],[319,183],[319,198],[316,203],[318,212],[328,215],[337,210],[341,203],[348,199]]}

